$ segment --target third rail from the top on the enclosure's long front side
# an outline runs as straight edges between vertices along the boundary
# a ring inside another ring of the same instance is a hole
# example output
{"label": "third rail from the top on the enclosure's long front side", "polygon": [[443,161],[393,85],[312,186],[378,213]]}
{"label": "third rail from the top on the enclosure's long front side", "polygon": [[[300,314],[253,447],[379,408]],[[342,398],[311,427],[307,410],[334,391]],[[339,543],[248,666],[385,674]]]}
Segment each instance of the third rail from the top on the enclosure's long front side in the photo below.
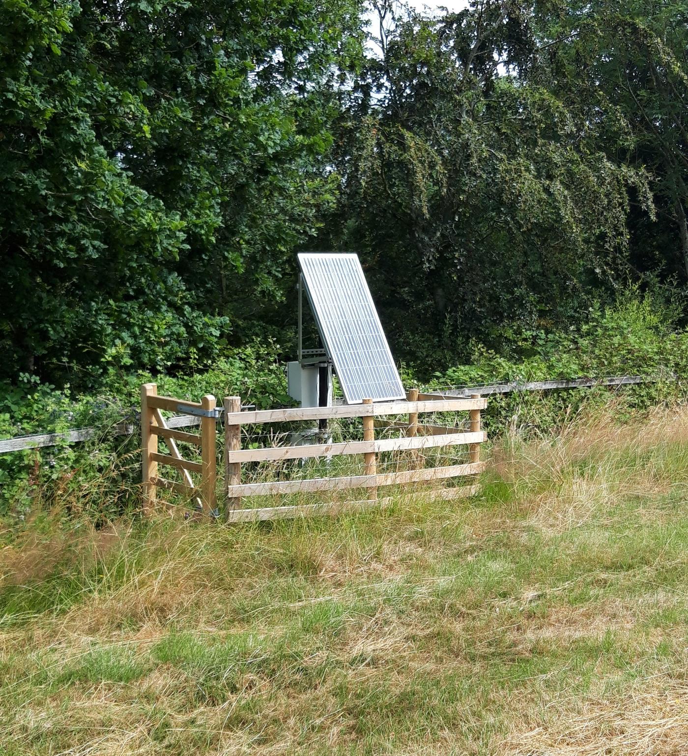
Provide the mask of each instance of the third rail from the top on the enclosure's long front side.
{"label": "third rail from the top on the enclosure's long front side", "polygon": [[384,472],[379,475],[359,475],[345,478],[316,478],[308,480],[275,481],[272,483],[248,483],[227,486],[230,496],[267,496],[270,494],[298,494],[308,491],[339,491],[344,488],[376,488],[378,485],[396,485],[427,480],[458,478],[483,472],[484,462],[476,464],[430,467],[405,472]]}

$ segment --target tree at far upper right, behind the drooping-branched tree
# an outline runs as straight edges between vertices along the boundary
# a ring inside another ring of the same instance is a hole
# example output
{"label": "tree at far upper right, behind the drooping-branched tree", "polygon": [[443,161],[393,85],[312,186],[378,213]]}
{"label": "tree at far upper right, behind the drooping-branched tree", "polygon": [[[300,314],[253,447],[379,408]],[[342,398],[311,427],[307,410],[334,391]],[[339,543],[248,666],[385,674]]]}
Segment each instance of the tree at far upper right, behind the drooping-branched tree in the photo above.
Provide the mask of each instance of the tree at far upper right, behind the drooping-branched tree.
{"label": "tree at far upper right, behind the drooping-branched tree", "polygon": [[610,160],[652,176],[656,222],[631,213],[641,269],[688,278],[688,3],[543,5],[548,86],[597,123]]}

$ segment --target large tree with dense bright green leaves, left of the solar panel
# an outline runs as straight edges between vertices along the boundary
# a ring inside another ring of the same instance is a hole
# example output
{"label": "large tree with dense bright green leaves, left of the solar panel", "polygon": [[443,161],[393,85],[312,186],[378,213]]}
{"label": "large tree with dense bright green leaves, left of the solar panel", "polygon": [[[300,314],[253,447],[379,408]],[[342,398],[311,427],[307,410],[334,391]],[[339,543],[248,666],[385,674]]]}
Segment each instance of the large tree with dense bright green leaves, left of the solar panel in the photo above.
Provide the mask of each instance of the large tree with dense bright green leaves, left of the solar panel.
{"label": "large tree with dense bright green leaves, left of the solar panel", "polygon": [[0,371],[88,380],[239,338],[332,203],[359,2],[2,0],[0,21]]}

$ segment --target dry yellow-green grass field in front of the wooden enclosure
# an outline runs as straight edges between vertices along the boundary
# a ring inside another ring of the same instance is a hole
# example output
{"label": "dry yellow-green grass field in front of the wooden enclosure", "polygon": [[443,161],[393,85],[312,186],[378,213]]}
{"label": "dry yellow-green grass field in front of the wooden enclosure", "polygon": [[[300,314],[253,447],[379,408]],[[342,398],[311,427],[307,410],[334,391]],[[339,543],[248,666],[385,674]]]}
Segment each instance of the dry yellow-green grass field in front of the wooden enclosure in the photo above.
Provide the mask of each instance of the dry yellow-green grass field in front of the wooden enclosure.
{"label": "dry yellow-green grass field in front of the wooden enclosure", "polygon": [[479,496],[6,548],[0,753],[683,754],[688,412]]}

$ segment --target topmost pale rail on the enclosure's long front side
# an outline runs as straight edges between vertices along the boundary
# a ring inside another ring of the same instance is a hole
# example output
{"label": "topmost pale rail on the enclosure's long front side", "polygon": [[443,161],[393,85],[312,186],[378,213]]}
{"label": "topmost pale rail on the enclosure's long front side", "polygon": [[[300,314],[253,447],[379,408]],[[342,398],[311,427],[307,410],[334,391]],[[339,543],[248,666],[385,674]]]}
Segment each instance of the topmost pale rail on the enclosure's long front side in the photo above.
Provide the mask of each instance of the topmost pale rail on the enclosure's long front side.
{"label": "topmost pale rail on the enclosure's long front side", "polygon": [[288,423],[298,420],[325,420],[335,417],[384,417],[404,415],[409,412],[459,412],[484,410],[487,400],[449,398],[444,401],[381,401],[375,404],[344,404],[338,407],[292,407],[282,410],[258,410],[233,412],[227,422],[238,423]]}

